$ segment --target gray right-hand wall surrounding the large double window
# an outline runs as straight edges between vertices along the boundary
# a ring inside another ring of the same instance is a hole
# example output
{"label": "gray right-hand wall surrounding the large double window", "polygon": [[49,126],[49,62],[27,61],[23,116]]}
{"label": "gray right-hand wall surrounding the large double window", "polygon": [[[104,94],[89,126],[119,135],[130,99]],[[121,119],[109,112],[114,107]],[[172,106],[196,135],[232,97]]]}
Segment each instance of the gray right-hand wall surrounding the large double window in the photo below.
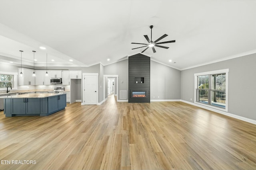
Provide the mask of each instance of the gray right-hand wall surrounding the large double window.
{"label": "gray right-hand wall surrounding the large double window", "polygon": [[181,99],[194,102],[194,73],[226,68],[229,68],[228,112],[256,120],[256,54],[182,70]]}

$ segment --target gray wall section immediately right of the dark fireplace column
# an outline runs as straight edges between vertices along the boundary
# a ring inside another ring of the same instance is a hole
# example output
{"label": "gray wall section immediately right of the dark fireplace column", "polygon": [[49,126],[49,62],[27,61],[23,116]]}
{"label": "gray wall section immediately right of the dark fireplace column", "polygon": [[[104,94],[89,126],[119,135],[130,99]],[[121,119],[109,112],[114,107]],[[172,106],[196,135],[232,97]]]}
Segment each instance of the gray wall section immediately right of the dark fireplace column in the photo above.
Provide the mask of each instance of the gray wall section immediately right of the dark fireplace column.
{"label": "gray wall section immediately right of the dark fireplace column", "polygon": [[150,99],[179,100],[180,70],[155,61],[150,62],[150,69]]}

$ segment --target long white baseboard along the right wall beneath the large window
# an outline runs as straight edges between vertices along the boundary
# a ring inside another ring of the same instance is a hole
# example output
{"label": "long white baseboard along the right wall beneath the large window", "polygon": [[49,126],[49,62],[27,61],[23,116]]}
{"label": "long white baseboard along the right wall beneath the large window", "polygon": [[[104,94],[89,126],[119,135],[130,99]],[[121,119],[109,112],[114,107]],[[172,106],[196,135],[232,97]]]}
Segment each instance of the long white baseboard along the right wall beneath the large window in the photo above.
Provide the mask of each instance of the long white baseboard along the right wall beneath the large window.
{"label": "long white baseboard along the right wall beneath the large window", "polygon": [[242,117],[242,116],[239,116],[239,115],[235,115],[235,114],[232,114],[232,113],[228,113],[228,112],[225,112],[225,111],[214,109],[214,108],[211,108],[211,107],[202,106],[200,104],[195,104],[195,103],[188,102],[188,101],[185,101],[185,100],[180,100],[180,101],[184,102],[184,103],[187,103],[187,104],[191,104],[193,106],[201,107],[201,108],[204,108],[204,109],[207,109],[207,110],[210,110],[210,111],[214,111],[214,112],[220,113],[222,115],[233,117],[233,118],[236,118],[236,119],[239,119],[239,120],[242,120],[242,121],[246,121],[246,122],[249,122],[249,123],[252,123],[252,124],[256,125],[256,120],[253,120],[253,119],[248,119],[246,117]]}

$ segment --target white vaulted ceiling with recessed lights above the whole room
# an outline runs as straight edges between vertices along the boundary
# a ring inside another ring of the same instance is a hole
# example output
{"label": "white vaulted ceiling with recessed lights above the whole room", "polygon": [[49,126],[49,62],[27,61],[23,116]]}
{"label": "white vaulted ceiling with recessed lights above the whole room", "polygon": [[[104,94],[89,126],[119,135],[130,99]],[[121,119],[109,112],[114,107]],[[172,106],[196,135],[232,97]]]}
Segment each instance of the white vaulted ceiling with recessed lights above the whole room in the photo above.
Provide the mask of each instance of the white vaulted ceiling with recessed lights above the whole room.
{"label": "white vaulted ceiling with recessed lights above the whole room", "polygon": [[176,42],[143,54],[180,70],[256,52],[256,1],[0,0],[0,59],[107,65],[142,52],[131,43],[147,43],[150,25],[153,41]]}

